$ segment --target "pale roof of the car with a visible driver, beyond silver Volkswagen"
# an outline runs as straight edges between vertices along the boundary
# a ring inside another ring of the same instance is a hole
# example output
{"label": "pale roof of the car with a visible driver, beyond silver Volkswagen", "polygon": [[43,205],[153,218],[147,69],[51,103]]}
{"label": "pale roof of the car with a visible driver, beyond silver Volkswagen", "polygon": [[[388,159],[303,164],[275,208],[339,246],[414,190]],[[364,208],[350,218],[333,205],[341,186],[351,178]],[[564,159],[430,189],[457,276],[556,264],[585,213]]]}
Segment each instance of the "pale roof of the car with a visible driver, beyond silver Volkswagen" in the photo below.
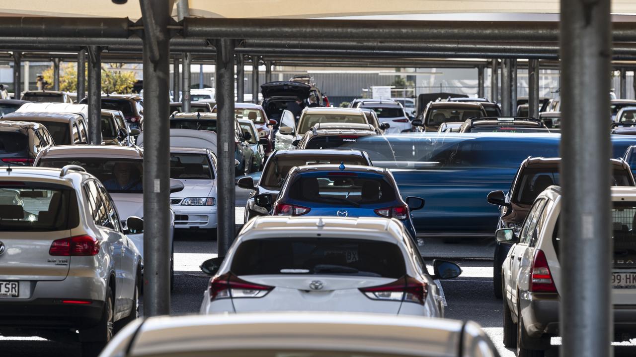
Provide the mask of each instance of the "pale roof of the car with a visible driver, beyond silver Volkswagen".
{"label": "pale roof of the car with a visible driver, beyond silver Volkswagen", "polygon": [[40,158],[129,158],[144,157],[139,147],[116,145],[56,145],[41,152]]}

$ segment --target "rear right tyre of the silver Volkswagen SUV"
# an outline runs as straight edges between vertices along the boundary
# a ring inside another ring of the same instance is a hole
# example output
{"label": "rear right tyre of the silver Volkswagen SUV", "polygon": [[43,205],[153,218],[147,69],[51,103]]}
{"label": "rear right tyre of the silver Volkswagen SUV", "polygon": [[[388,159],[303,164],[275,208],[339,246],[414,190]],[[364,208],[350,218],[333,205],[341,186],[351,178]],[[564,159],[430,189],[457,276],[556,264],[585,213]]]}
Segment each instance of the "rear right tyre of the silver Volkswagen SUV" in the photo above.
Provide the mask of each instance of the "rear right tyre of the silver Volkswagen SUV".
{"label": "rear right tyre of the silver Volkswagen SUV", "polygon": [[[83,357],[98,356],[106,344],[113,339],[114,332],[114,298],[110,286],[106,288],[106,299],[104,299],[104,309],[102,318],[93,328],[80,332],[83,339],[81,343],[81,353]],[[90,340],[85,340],[88,337]]]}

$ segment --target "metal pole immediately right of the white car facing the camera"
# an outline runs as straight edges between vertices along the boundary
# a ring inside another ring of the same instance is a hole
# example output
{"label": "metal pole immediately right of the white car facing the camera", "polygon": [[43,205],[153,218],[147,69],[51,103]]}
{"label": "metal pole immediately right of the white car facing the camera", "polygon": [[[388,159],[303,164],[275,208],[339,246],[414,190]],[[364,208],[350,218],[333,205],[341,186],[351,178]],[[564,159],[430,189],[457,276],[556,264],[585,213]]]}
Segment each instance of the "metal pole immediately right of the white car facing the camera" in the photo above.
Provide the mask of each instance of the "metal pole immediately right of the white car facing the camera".
{"label": "metal pole immediately right of the white car facing the camera", "polygon": [[[216,105],[219,161],[218,254],[225,255],[235,236],[234,189],[234,41],[216,41]],[[245,163],[243,163],[245,165]]]}

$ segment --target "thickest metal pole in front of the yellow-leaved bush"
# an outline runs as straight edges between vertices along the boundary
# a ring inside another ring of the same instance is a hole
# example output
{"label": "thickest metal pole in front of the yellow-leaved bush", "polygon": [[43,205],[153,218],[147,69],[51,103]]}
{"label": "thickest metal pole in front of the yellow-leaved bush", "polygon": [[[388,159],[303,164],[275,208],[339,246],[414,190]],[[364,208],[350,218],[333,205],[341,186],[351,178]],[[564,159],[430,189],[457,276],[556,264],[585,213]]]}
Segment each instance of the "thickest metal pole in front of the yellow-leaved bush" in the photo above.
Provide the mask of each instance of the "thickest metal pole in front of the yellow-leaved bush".
{"label": "thickest metal pole in front of the yellow-leaved bush", "polygon": [[102,48],[88,46],[88,144],[102,144]]}

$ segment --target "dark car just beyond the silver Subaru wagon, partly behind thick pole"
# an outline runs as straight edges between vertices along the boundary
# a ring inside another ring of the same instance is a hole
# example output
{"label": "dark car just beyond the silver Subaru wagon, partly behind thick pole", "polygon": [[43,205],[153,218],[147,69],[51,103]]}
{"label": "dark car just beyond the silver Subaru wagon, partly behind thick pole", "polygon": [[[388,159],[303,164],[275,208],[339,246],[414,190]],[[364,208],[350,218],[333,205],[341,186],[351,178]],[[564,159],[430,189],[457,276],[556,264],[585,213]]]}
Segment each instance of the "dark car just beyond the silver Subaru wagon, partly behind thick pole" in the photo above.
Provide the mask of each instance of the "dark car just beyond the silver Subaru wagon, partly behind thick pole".
{"label": "dark car just beyond the silver Subaru wagon, partly behind thick pole", "polygon": [[[613,181],[615,186],[633,186],[634,177],[630,166],[623,160],[612,159]],[[560,182],[560,158],[527,158],[525,159],[513,179],[508,193],[492,191],[487,201],[499,206],[499,223],[497,229],[511,228],[519,234],[521,225],[532,203],[548,186],[558,185]],[[493,260],[493,281],[495,297],[502,297],[501,266],[508,255],[510,245],[496,241]]]}

